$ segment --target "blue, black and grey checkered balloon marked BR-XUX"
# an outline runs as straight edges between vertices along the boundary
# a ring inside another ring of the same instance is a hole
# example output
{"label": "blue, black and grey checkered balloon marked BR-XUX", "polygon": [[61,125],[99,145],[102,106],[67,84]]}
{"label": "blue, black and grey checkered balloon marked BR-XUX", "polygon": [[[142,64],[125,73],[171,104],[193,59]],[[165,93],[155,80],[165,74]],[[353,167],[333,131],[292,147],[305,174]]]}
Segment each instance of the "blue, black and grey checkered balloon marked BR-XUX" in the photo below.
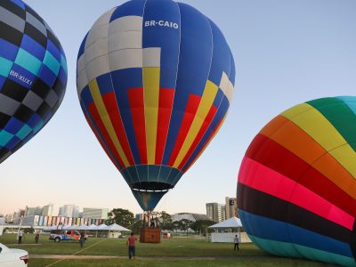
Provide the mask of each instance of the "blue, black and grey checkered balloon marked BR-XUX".
{"label": "blue, black and grey checkered balloon marked BR-XUX", "polygon": [[53,117],[66,85],[52,29],[22,1],[0,1],[0,163]]}

